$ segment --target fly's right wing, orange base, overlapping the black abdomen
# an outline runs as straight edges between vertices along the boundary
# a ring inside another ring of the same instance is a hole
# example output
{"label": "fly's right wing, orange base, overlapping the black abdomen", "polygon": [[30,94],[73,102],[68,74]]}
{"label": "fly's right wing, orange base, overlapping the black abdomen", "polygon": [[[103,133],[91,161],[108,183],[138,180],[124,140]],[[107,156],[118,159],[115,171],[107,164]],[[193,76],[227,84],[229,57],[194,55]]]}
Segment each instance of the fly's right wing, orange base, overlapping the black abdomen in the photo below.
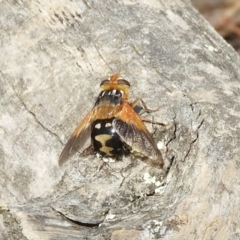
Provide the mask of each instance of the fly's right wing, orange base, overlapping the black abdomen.
{"label": "fly's right wing, orange base, overlapping the black abdomen", "polygon": [[152,165],[163,167],[162,154],[153,137],[128,103],[125,103],[122,110],[116,115],[113,127],[121,139],[134,151],[146,156]]}

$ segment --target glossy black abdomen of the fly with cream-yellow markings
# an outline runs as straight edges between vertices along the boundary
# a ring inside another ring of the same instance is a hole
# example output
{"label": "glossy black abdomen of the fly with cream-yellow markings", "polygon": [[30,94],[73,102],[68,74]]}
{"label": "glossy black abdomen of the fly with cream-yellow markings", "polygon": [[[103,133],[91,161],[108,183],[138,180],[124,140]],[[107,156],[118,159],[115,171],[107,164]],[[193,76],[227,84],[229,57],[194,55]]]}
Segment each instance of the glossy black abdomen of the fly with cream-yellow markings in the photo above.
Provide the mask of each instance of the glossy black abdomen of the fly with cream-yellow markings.
{"label": "glossy black abdomen of the fly with cream-yellow markings", "polygon": [[104,157],[121,158],[130,153],[130,147],[120,139],[111,119],[96,120],[91,133],[92,145]]}

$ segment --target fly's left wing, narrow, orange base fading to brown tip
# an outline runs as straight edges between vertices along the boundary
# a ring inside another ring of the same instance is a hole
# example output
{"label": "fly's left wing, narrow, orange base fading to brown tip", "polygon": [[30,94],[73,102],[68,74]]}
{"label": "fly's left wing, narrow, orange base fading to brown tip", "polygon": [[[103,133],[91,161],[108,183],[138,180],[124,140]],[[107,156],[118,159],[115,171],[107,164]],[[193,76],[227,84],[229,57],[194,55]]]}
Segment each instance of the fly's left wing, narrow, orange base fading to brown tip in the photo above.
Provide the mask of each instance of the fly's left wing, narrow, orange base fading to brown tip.
{"label": "fly's left wing, narrow, orange base fading to brown tip", "polygon": [[58,160],[59,166],[62,166],[69,157],[71,157],[74,153],[76,153],[84,146],[86,140],[91,135],[92,122],[93,112],[91,111],[82,120],[82,122],[78,125],[72,136],[67,141]]}

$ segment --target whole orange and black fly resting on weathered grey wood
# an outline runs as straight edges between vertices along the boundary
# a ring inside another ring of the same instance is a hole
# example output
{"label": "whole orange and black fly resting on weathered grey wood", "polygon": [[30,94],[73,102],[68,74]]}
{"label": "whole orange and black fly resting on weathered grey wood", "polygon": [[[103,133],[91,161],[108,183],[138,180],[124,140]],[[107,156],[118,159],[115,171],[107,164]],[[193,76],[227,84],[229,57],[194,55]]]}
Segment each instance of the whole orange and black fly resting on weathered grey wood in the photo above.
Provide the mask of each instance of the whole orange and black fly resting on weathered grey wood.
{"label": "whole orange and black fly resting on weathered grey wood", "polygon": [[134,109],[139,100],[128,101],[130,83],[115,74],[102,81],[100,87],[94,107],[66,143],[59,165],[81,150],[91,137],[90,148],[102,156],[119,158],[133,152],[144,157],[146,162],[162,168],[161,152]]}

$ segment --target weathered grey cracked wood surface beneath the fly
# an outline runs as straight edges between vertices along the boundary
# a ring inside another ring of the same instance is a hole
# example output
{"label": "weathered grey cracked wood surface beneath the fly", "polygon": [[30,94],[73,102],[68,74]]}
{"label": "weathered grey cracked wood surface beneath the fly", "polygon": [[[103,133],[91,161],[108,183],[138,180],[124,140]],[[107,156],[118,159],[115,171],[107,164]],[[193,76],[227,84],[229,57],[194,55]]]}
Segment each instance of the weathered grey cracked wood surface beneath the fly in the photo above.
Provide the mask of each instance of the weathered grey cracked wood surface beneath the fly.
{"label": "weathered grey cracked wood surface beneath the fly", "polygon": [[[0,34],[1,239],[240,239],[239,57],[188,1],[2,1]],[[60,169],[117,71],[160,107],[165,169]]]}

